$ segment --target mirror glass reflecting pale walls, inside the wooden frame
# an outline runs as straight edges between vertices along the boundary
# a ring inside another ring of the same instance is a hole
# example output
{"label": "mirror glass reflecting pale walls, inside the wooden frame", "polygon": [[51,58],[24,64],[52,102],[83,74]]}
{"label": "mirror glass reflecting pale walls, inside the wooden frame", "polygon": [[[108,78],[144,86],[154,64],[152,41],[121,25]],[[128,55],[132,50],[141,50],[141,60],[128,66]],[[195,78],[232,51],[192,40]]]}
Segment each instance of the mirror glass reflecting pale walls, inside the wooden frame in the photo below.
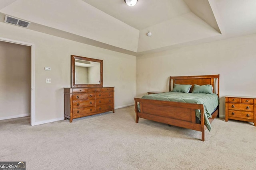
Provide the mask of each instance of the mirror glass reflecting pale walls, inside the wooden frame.
{"label": "mirror glass reflecting pale walls, inside the wooden frame", "polygon": [[100,63],[75,59],[76,84],[100,84]]}

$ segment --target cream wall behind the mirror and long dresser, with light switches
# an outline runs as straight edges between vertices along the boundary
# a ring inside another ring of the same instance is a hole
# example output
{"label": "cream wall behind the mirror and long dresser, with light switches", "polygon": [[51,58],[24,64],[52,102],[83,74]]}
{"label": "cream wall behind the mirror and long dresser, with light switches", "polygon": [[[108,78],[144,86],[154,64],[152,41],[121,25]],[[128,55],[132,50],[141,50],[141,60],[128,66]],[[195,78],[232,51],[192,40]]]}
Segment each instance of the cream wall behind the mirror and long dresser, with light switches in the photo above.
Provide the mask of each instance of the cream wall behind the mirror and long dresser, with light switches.
{"label": "cream wall behind the mirror and long dresser, with light switches", "polygon": [[[63,88],[70,87],[70,55],[103,60],[103,86],[115,86],[115,107],[134,103],[136,57],[0,23],[0,37],[35,44],[36,124],[64,118]],[[51,67],[45,71],[44,67]],[[51,78],[52,83],[46,83]]]}

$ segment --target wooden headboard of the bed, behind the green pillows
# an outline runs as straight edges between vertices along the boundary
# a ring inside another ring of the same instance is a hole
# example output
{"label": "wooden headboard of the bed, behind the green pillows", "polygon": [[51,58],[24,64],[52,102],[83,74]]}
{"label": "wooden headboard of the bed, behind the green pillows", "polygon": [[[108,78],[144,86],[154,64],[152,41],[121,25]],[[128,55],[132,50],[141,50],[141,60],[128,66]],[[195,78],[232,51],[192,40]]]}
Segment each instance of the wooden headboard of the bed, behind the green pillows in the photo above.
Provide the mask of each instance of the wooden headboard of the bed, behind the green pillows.
{"label": "wooden headboard of the bed, behind the green pillows", "polygon": [[[171,80],[172,80],[172,84],[171,84]],[[213,87],[213,90],[212,90],[213,93],[216,93],[219,96],[219,92],[220,92],[220,89],[219,89],[220,74],[204,75],[204,76],[170,76],[169,91],[171,91],[171,87],[172,88],[174,87],[174,83],[176,83],[176,84],[191,84],[192,87],[190,88],[190,91],[189,91],[190,93],[192,92],[192,90],[194,88],[194,84],[197,84],[200,86],[210,84]],[[218,86],[217,90],[215,90],[214,84],[216,84]]]}

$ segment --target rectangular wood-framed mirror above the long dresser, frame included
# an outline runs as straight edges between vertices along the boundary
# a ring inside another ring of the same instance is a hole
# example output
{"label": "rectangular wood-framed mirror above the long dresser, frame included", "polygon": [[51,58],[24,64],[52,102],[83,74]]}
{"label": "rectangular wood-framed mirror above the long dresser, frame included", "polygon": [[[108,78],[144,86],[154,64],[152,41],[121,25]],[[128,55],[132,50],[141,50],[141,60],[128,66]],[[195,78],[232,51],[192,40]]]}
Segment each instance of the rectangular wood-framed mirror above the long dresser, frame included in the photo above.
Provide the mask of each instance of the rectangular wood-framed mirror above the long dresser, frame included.
{"label": "rectangular wood-framed mirror above the long dresser, frame included", "polygon": [[102,87],[103,60],[71,55],[72,87]]}

